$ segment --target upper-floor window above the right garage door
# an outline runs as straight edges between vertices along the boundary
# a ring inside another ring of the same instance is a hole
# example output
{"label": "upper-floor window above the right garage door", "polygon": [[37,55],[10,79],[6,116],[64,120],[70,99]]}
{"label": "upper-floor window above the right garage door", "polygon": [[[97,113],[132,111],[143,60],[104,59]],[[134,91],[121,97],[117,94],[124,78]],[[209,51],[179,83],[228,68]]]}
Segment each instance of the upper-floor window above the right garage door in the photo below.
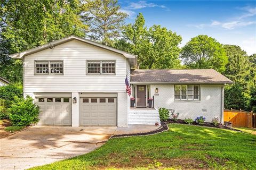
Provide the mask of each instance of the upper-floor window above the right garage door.
{"label": "upper-floor window above the right garage door", "polygon": [[116,74],[116,62],[115,61],[87,61],[86,74],[92,75],[115,75]]}

